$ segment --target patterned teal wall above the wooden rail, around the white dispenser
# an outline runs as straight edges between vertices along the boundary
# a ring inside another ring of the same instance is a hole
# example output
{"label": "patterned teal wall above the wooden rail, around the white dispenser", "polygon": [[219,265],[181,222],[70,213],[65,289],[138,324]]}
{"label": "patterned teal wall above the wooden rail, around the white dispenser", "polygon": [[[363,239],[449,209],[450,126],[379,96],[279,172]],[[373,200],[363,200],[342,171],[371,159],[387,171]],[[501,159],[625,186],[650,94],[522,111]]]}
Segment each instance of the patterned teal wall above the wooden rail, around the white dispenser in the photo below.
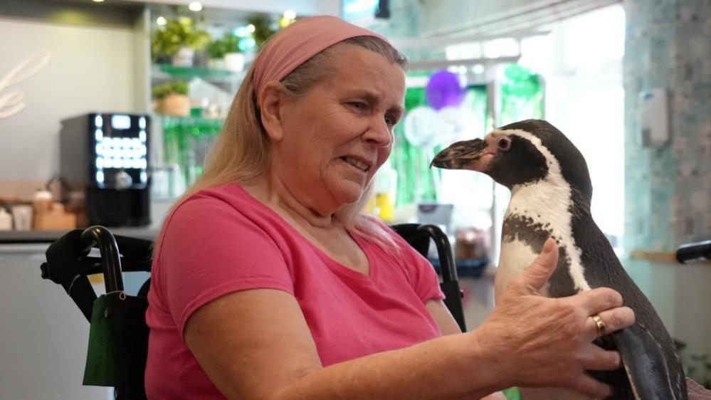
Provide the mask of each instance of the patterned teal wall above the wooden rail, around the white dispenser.
{"label": "patterned teal wall above the wooden rail, around the white dispenser", "polygon": [[[673,251],[711,238],[711,6],[628,0],[625,248]],[[670,142],[643,147],[638,93],[668,91]]]}

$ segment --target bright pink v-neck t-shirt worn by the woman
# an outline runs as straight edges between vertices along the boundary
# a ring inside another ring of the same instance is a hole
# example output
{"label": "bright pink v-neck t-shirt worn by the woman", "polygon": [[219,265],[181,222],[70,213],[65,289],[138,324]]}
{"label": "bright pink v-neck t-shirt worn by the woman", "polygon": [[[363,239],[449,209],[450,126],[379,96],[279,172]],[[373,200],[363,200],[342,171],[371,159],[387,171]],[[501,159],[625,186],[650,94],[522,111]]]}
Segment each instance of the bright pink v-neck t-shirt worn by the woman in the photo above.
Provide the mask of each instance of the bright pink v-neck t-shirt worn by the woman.
{"label": "bright pink v-neck t-shirt worn by the woman", "polygon": [[324,366],[441,335],[424,306],[444,298],[437,275],[409,246],[396,255],[352,235],[370,265],[369,276],[358,273],[237,184],[200,191],[169,218],[153,261],[146,313],[149,399],[224,399],[183,332],[195,310],[236,290],[294,295]]}

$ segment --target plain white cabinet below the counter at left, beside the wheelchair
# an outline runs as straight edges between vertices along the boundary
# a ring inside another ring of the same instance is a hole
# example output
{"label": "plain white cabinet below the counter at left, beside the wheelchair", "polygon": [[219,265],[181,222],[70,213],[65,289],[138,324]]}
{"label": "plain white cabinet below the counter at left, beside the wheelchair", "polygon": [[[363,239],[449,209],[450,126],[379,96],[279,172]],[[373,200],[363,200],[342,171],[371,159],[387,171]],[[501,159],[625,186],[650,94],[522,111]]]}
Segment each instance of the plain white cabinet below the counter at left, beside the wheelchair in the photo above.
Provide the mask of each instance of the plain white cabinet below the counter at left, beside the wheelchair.
{"label": "plain white cabinet below the counter at left, beside the wheelchair", "polygon": [[0,399],[113,399],[82,386],[89,324],[60,285],[43,280],[48,244],[0,244]]}

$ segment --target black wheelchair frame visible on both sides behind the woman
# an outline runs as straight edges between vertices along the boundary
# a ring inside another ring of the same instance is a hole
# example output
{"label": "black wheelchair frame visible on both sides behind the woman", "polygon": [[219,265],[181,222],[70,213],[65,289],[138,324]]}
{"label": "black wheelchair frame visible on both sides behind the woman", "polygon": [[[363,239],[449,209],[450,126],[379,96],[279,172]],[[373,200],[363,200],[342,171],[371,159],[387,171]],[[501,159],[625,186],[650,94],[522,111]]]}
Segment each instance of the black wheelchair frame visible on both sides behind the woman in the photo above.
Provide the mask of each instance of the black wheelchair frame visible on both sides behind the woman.
{"label": "black wheelchair frame visible on both sides behind the woman", "polygon": [[[462,332],[466,331],[457,270],[449,239],[434,225],[403,223],[391,228],[402,236],[418,253],[427,257],[431,243],[435,243],[441,289],[446,295],[446,306]],[[98,248],[100,256],[90,256]],[[127,295],[122,273],[150,271],[153,242],[114,235],[103,226],[75,229],[46,251],[46,263],[41,265],[42,278],[62,285],[79,310],[91,322],[97,295],[88,279],[102,273],[106,288],[106,309],[109,342],[112,348],[114,396],[118,400],[146,399],[144,370],[148,353],[149,329],[145,321],[148,307],[150,278],[136,296]]]}

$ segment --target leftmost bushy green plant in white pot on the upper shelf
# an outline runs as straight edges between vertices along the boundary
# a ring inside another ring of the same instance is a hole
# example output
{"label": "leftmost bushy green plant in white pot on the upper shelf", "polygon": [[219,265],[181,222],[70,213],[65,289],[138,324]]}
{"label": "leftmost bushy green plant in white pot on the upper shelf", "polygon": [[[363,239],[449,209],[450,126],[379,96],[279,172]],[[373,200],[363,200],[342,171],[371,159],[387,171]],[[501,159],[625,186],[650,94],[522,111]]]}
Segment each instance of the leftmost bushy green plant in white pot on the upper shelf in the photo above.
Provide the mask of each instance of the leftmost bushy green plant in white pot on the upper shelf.
{"label": "leftmost bushy green plant in white pot on the upper shelf", "polygon": [[210,41],[209,34],[198,29],[195,22],[185,16],[169,19],[164,26],[153,32],[151,54],[154,60],[172,58],[173,65],[192,66],[196,50],[201,50]]}

